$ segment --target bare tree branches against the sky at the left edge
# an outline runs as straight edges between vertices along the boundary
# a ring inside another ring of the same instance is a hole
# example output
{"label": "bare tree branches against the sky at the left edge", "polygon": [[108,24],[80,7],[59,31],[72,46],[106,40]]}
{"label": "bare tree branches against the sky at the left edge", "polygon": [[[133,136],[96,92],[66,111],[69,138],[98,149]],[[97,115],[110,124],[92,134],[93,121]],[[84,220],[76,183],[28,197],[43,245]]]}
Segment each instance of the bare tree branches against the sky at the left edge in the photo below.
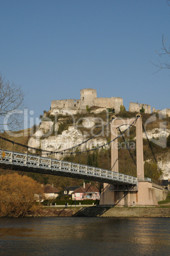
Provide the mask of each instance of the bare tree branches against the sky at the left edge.
{"label": "bare tree branches against the sky at the left edge", "polygon": [[22,122],[24,109],[24,92],[6,81],[0,73],[0,131],[17,129]]}

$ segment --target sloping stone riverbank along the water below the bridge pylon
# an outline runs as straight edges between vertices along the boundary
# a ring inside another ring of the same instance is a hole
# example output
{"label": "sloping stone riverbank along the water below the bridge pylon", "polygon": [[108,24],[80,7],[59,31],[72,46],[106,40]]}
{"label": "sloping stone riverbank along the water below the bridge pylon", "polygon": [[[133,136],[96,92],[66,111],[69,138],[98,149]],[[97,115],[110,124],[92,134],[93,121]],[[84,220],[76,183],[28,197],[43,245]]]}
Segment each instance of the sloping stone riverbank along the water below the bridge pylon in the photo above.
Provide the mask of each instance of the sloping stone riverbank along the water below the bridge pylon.
{"label": "sloping stone riverbank along the water below the bridge pylon", "polygon": [[170,208],[162,207],[70,207],[39,208],[27,217],[170,217]]}

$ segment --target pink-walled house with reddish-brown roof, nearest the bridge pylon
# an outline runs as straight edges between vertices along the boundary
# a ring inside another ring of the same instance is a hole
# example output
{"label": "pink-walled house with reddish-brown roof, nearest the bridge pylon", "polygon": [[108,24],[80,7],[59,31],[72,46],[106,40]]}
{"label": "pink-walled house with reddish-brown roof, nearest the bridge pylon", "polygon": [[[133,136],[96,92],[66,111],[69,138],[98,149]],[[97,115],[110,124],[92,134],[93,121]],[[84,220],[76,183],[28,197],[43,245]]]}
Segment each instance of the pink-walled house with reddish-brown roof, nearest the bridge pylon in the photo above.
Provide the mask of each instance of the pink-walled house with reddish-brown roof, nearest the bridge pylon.
{"label": "pink-walled house with reddish-brown roof, nearest the bridge pylon", "polygon": [[85,184],[80,188],[77,188],[72,193],[72,199],[74,200],[85,200],[85,199],[92,199],[92,200],[100,200],[100,193],[99,189],[92,186],[91,183]]}

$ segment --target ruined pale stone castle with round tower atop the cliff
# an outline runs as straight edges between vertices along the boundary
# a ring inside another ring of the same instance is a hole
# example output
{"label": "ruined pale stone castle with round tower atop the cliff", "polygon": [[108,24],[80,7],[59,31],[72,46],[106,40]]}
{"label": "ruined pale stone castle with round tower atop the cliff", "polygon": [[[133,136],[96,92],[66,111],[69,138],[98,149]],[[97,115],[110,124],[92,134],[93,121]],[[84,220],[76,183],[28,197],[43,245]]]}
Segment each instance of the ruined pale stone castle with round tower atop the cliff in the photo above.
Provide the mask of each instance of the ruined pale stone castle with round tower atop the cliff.
{"label": "ruined pale stone castle with round tower atop the cliff", "polygon": [[[62,99],[52,101],[50,112],[55,113],[82,113],[87,111],[87,108],[95,107],[93,112],[100,113],[107,108],[110,108],[114,113],[120,112],[120,106],[123,106],[123,99],[120,97],[99,97],[97,98],[97,91],[95,89],[83,89],[80,90],[80,99]],[[129,112],[139,112],[143,108],[145,113],[158,113],[160,110],[151,109],[148,104],[141,103],[129,103]],[[166,115],[170,117],[170,109],[162,110]]]}

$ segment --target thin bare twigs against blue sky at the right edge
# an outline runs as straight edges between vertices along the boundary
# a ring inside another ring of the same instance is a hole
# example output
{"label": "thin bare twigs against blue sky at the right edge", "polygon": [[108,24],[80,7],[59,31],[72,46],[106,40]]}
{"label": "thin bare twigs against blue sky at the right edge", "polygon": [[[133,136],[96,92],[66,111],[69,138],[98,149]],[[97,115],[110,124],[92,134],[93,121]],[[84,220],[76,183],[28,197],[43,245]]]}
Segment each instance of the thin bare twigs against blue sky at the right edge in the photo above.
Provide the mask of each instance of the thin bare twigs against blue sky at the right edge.
{"label": "thin bare twigs against blue sky at the right edge", "polygon": [[[170,0],[167,0],[167,4],[170,7]],[[157,52],[155,50],[155,52],[161,58],[161,60],[159,60],[159,64],[154,64],[157,68],[159,68],[159,70],[160,69],[170,69],[170,46],[169,47],[166,46],[166,42],[167,42],[167,38],[164,39],[164,34],[163,34],[162,35],[162,48],[161,48],[161,52]]]}

